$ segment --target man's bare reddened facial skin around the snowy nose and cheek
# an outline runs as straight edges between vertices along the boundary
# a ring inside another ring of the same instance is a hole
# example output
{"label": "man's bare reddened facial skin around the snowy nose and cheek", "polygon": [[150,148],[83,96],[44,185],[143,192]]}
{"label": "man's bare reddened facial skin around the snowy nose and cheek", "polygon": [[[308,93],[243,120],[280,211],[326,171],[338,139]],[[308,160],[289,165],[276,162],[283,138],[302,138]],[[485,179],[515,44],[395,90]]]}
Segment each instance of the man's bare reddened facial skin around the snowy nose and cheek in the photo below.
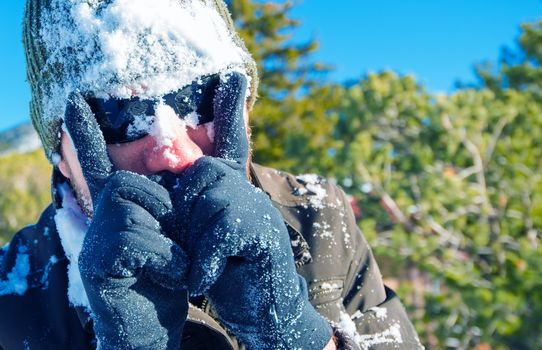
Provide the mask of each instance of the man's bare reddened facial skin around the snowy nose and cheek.
{"label": "man's bare reddened facial skin around the snowy nose and cheek", "polygon": [[[246,106],[244,115],[247,122]],[[201,156],[213,155],[212,122],[195,127],[187,126],[180,118],[170,118],[165,123],[161,122],[163,121],[155,120],[157,127],[167,130],[158,130],[136,141],[107,145],[109,158],[115,169],[141,175],[152,175],[162,171],[179,174]],[[167,136],[167,142],[164,142],[164,134]],[[62,174],[70,179],[79,204],[88,214],[91,212],[88,208],[92,208],[90,192],[77,153],[66,132],[62,134],[61,151],[62,160],[58,167]]]}

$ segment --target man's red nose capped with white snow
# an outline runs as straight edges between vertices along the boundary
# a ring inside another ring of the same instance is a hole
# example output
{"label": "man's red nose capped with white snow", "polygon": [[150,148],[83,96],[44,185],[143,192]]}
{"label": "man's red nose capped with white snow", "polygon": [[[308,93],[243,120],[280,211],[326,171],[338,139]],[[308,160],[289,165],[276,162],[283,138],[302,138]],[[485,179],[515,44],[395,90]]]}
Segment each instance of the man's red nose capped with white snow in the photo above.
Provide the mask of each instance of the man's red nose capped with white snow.
{"label": "man's red nose capped with white snow", "polygon": [[159,102],[155,113],[150,130],[155,144],[147,154],[147,168],[151,172],[182,172],[202,157],[203,152],[189,137],[186,123],[170,106]]}

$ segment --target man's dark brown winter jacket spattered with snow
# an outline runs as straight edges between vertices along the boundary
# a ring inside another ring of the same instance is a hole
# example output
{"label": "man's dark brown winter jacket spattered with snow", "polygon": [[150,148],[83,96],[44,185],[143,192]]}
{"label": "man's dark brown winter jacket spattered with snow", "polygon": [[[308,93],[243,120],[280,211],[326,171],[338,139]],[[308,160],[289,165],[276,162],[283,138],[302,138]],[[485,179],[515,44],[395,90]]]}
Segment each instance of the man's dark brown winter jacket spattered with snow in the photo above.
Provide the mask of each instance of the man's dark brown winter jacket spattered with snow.
{"label": "man's dark brown winter jacket spattered with snow", "polygon": [[[256,164],[251,177],[284,218],[316,310],[361,349],[422,348],[398,297],[383,284],[345,193],[315,175],[296,177]],[[0,250],[0,349],[96,347],[89,313],[68,299],[69,261],[55,213],[49,206]],[[205,298],[194,298],[182,349],[244,346],[214,319]]]}

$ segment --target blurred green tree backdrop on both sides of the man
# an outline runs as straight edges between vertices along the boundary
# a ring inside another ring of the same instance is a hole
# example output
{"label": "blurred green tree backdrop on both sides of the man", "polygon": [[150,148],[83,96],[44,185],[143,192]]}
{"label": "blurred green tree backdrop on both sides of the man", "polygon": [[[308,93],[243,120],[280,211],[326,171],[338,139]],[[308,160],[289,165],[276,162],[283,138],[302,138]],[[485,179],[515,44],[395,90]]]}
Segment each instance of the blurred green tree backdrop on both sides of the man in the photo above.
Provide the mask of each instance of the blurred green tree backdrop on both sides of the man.
{"label": "blurred green tree backdrop on both sides of the man", "polygon": [[[330,83],[318,43],[291,40],[291,2],[230,3],[259,62],[255,160],[352,196],[428,349],[542,349],[542,21],[476,84],[435,95],[391,71]],[[2,243],[46,205],[50,168],[0,161]]]}

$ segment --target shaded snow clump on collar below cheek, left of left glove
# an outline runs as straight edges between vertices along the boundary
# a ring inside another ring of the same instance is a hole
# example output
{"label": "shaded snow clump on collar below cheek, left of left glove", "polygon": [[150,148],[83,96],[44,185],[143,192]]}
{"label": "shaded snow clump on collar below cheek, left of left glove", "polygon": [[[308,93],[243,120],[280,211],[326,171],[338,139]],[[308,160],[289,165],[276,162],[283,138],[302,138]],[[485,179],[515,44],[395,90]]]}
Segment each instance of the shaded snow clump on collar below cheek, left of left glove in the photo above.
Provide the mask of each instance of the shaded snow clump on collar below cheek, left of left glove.
{"label": "shaded snow clump on collar below cheek, left of left glove", "polygon": [[87,293],[79,272],[79,254],[88,229],[88,218],[83,214],[67,184],[61,184],[62,208],[55,215],[55,223],[60,236],[64,253],[69,260],[68,265],[68,299],[74,306],[90,309]]}

